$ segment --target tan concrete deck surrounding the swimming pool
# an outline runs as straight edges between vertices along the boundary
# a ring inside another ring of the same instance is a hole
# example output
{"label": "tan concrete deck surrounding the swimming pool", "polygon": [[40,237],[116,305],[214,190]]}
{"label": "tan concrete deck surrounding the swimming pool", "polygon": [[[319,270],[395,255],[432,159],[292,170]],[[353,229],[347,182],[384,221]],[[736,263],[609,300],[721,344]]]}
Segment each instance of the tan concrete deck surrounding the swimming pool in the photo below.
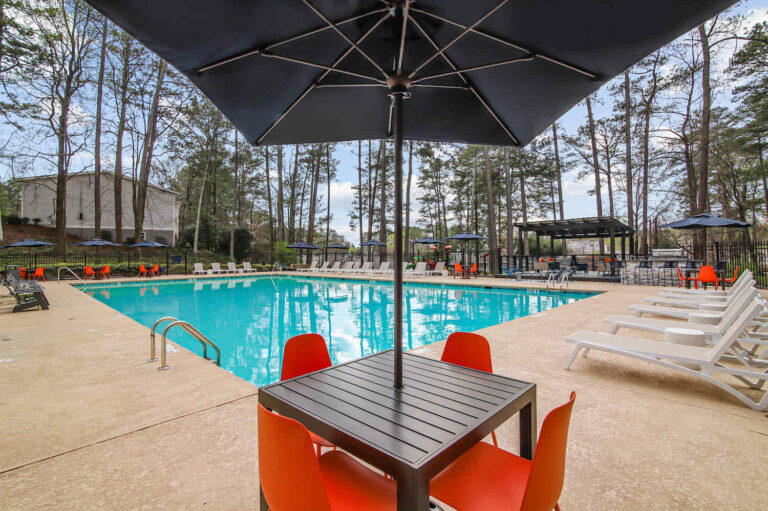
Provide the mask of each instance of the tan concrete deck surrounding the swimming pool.
{"label": "tan concrete deck surrounding the swimming pool", "polygon": [[[568,334],[607,331],[605,316],[658,288],[571,288],[605,292],[480,331],[495,372],[537,384],[539,424],[578,393],[561,507],[764,507],[766,414],[694,378],[610,354],[562,369]],[[158,371],[146,362],[146,327],[69,284],[47,289],[49,311],[11,314],[11,298],[0,294],[1,507],[256,508],[257,389],[184,349]],[[438,358],[442,344],[416,353]],[[517,421],[498,436],[515,452]]]}

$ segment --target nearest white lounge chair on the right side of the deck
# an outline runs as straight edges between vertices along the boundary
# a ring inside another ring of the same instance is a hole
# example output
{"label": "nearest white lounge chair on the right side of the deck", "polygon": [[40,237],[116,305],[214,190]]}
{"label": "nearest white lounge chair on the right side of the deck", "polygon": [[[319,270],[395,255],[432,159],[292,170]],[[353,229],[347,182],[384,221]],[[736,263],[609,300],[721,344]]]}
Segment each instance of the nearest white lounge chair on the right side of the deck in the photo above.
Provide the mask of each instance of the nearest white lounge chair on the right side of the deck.
{"label": "nearest white lounge chair on the right side of the deck", "polygon": [[[635,337],[580,330],[568,337],[568,342],[576,344],[565,369],[569,369],[582,349],[600,350],[617,355],[637,358],[651,364],[661,365],[707,381],[754,410],[768,408],[768,392],[760,401],[754,401],[741,390],[718,378],[717,374],[731,376],[746,384],[751,389],[761,389],[768,379],[768,360],[753,358],[735,358],[728,353],[738,352],[736,345],[739,336],[762,312],[763,306],[755,300],[742,312],[720,340],[712,347],[687,346],[668,342],[651,341]],[[585,353],[586,354],[586,353]],[[725,362],[741,363],[734,368]]]}

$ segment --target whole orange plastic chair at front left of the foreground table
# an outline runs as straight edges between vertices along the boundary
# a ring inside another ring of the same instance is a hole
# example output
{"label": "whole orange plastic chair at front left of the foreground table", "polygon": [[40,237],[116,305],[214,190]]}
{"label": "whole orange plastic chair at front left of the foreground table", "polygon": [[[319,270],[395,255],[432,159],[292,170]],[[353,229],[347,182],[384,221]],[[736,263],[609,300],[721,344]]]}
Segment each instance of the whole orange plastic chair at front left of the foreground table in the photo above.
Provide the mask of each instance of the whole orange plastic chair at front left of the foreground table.
{"label": "whole orange plastic chair at front left of the foreground table", "polygon": [[393,481],[341,451],[319,458],[301,423],[259,405],[259,479],[270,511],[394,511]]}

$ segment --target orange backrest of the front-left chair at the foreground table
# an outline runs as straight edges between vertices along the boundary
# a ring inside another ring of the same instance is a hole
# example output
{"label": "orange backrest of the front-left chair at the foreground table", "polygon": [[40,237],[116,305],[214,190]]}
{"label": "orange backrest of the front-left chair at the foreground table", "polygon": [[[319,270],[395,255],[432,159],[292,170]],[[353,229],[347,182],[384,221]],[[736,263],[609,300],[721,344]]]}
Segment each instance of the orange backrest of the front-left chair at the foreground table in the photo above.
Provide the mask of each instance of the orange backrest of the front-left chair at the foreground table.
{"label": "orange backrest of the front-left chair at the foreground table", "polygon": [[307,428],[259,405],[258,430],[259,481],[269,509],[330,511]]}

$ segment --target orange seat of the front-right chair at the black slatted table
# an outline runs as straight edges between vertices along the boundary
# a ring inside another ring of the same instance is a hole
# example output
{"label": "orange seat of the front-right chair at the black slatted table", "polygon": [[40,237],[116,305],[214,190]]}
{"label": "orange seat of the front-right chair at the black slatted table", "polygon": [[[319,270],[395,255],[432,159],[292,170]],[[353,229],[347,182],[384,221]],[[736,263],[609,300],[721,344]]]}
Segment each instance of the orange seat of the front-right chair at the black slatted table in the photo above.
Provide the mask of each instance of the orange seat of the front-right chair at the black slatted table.
{"label": "orange seat of the front-right chair at the black slatted table", "polygon": [[429,493],[461,511],[520,509],[532,466],[530,460],[480,442],[432,478]]}

